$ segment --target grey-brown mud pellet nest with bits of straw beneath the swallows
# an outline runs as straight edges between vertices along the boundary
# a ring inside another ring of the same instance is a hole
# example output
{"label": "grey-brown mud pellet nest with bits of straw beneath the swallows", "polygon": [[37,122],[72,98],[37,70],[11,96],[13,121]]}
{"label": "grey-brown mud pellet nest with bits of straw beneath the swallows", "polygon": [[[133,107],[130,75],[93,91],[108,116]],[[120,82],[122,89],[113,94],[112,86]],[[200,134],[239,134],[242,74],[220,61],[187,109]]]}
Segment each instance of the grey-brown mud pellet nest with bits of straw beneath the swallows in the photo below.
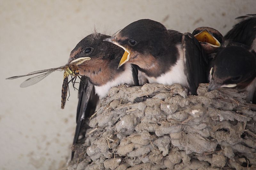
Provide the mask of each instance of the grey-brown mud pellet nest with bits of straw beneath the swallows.
{"label": "grey-brown mud pellet nest with bits of straw beneath the swallows", "polygon": [[256,169],[256,105],[222,88],[113,87],[68,170]]}

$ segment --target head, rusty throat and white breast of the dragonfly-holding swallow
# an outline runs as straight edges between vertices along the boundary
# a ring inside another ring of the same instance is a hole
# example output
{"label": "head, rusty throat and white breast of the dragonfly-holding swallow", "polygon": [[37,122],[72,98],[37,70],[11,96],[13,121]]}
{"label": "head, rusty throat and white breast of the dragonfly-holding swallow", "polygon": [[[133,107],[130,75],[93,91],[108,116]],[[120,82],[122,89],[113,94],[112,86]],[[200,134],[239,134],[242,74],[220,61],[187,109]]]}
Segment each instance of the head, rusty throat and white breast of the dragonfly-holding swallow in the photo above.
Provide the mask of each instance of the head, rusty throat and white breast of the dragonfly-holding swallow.
{"label": "head, rusty throat and white breast of the dragonfly-holding swallow", "polygon": [[138,83],[137,76],[133,76],[132,65],[126,64],[118,67],[118,61],[124,50],[115,45],[103,41],[110,36],[94,33],[86,36],[71,51],[69,60],[91,56],[91,60],[78,65],[79,74],[90,79],[94,85],[96,94],[100,98],[105,97],[108,90],[117,85]]}

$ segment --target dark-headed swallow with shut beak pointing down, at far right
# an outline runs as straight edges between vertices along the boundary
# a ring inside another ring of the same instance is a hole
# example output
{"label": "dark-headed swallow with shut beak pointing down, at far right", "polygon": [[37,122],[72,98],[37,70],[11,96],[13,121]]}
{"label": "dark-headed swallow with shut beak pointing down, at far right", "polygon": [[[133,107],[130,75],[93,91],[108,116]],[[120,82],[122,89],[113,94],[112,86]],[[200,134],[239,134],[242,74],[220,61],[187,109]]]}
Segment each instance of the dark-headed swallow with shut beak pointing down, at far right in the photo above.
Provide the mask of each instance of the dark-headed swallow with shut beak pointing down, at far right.
{"label": "dark-headed swallow with shut beak pointing down, at far right", "polygon": [[247,91],[247,102],[255,102],[256,53],[244,46],[232,45],[217,53],[210,71],[211,81],[208,91],[221,87]]}

